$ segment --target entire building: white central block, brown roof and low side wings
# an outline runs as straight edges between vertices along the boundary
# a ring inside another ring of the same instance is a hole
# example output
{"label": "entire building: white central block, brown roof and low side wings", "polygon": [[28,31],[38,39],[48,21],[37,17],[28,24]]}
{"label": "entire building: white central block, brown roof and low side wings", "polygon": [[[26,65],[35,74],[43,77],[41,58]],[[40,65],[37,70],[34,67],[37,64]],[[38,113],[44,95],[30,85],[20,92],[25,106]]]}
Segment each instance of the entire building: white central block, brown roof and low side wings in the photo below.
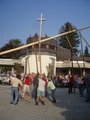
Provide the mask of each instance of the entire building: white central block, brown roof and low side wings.
{"label": "entire building: white central block, brown roof and low side wings", "polygon": [[[42,37],[42,39],[48,38],[48,36]],[[35,34],[33,37],[29,37],[26,44],[33,43],[38,41],[39,37]],[[72,69],[74,73],[85,72],[90,70],[90,57],[85,58],[73,58],[73,62],[71,61],[71,52],[69,49],[65,49],[60,47],[57,44],[57,40],[52,39],[46,42],[41,43],[41,64],[40,64],[40,56],[39,56],[39,45],[29,46],[25,49],[21,50],[21,56],[19,59],[19,63],[24,66],[24,73],[28,74],[31,72],[40,73],[40,65],[41,72],[46,75],[56,75],[56,73],[71,73]],[[78,61],[77,61],[78,59]],[[12,66],[16,61],[5,60],[5,65]],[[13,63],[12,63],[13,61]],[[0,62],[0,65],[3,66],[4,62]]]}

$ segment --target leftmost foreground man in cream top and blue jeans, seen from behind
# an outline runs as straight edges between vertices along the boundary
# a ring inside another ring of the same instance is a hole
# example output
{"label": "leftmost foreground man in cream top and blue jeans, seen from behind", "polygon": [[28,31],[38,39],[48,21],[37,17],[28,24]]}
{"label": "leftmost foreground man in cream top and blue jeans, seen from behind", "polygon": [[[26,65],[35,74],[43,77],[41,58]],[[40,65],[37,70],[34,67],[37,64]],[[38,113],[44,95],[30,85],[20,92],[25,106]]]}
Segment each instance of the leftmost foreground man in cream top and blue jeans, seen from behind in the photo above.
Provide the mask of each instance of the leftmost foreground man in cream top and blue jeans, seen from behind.
{"label": "leftmost foreground man in cream top and blue jeans, seen from behind", "polygon": [[13,75],[11,77],[11,99],[10,103],[16,105],[19,101],[19,86],[22,86],[19,75]]}

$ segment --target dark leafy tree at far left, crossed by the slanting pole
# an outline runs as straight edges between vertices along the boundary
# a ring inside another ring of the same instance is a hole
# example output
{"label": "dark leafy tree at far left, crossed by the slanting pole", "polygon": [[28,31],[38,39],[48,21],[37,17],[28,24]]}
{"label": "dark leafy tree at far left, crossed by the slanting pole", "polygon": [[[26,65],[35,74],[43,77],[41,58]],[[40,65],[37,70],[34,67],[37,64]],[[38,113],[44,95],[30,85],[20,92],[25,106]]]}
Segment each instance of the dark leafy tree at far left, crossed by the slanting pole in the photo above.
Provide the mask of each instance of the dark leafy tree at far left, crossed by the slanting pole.
{"label": "dark leafy tree at far left, crossed by the slanting pole", "polygon": [[[13,48],[17,48],[17,47],[20,47],[21,45],[23,45],[23,44],[21,43],[21,41],[19,39],[11,39],[9,41],[9,43],[5,44],[5,46],[3,46],[0,49],[0,52],[6,51],[6,50],[9,50],[9,49],[13,49]],[[11,52],[11,53],[8,53],[8,54],[4,54],[1,57],[17,59],[17,58],[20,57],[20,50],[15,51],[15,52]]]}

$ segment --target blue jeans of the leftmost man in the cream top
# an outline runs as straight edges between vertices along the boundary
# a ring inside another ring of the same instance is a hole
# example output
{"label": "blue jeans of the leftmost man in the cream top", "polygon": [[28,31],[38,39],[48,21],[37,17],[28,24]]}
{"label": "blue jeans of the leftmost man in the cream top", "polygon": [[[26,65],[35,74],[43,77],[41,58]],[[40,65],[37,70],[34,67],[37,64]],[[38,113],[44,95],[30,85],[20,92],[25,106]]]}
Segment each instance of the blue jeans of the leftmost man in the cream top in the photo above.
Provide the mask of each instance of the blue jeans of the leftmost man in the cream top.
{"label": "blue jeans of the leftmost man in the cream top", "polygon": [[11,103],[17,104],[19,100],[18,87],[11,87]]}

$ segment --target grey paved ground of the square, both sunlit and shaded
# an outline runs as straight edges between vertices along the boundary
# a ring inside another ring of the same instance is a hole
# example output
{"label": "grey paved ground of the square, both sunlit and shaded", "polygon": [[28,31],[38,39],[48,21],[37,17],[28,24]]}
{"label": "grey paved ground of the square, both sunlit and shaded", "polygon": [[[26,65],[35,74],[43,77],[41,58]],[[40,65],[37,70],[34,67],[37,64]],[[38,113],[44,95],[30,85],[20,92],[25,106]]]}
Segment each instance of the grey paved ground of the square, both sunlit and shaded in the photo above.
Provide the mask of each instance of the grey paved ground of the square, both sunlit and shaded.
{"label": "grey paved ground of the square, both sunlit and shaded", "polygon": [[45,100],[45,105],[34,105],[34,100],[20,99],[18,105],[11,105],[10,86],[0,85],[0,120],[90,120],[90,103],[84,97],[69,95],[67,88],[56,90],[57,103]]}

